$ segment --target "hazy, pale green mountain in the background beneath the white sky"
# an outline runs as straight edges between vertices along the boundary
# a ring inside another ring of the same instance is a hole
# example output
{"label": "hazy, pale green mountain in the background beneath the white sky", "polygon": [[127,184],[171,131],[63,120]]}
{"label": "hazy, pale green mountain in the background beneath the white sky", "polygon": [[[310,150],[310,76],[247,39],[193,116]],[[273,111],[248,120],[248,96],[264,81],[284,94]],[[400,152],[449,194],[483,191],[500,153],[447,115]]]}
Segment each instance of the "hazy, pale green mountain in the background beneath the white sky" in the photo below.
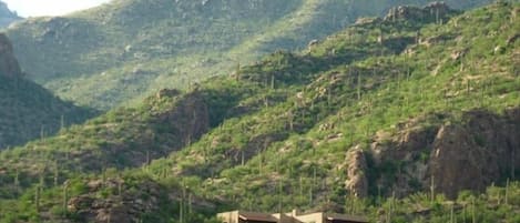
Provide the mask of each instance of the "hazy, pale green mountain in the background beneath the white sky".
{"label": "hazy, pale green mountain in the background beneath the white sky", "polygon": [[[114,0],[8,30],[28,77],[108,110],[163,88],[185,89],[278,49],[304,49],[359,17],[427,0]],[[468,8],[487,0],[450,4]]]}

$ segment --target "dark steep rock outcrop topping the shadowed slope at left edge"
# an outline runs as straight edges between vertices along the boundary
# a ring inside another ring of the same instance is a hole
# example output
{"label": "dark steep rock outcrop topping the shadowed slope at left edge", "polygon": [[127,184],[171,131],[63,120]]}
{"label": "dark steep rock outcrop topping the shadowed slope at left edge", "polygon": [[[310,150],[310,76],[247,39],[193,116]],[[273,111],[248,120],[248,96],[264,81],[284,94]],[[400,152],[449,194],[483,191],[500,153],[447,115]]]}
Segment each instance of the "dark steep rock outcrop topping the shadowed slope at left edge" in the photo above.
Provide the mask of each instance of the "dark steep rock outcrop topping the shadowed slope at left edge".
{"label": "dark steep rock outcrop topping the shadowed slope at left edge", "polygon": [[14,58],[11,41],[0,33],[0,75],[8,78],[23,77],[18,60]]}

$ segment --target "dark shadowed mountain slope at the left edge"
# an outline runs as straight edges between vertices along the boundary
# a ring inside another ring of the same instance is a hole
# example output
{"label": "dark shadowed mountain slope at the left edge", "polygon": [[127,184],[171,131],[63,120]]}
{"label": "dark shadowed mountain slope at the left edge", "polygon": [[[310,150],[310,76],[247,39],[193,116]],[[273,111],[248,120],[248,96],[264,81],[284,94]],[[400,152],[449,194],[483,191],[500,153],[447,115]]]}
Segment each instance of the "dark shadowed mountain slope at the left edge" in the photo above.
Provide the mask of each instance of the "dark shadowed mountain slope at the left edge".
{"label": "dark shadowed mountain slope at the left edge", "polygon": [[58,99],[23,75],[11,42],[0,34],[0,149],[52,135],[94,114]]}

